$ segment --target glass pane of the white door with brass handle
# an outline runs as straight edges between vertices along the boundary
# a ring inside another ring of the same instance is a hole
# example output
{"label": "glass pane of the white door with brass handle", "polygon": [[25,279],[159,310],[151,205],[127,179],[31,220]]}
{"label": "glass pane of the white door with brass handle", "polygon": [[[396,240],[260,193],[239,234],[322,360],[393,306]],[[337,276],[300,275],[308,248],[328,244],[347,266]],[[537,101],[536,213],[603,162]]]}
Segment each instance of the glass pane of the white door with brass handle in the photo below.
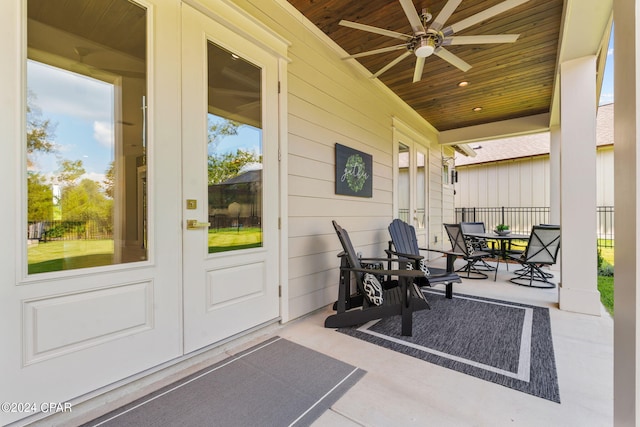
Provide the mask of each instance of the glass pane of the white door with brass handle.
{"label": "glass pane of the white door with brass handle", "polygon": [[262,246],[262,70],[209,42],[209,253]]}

